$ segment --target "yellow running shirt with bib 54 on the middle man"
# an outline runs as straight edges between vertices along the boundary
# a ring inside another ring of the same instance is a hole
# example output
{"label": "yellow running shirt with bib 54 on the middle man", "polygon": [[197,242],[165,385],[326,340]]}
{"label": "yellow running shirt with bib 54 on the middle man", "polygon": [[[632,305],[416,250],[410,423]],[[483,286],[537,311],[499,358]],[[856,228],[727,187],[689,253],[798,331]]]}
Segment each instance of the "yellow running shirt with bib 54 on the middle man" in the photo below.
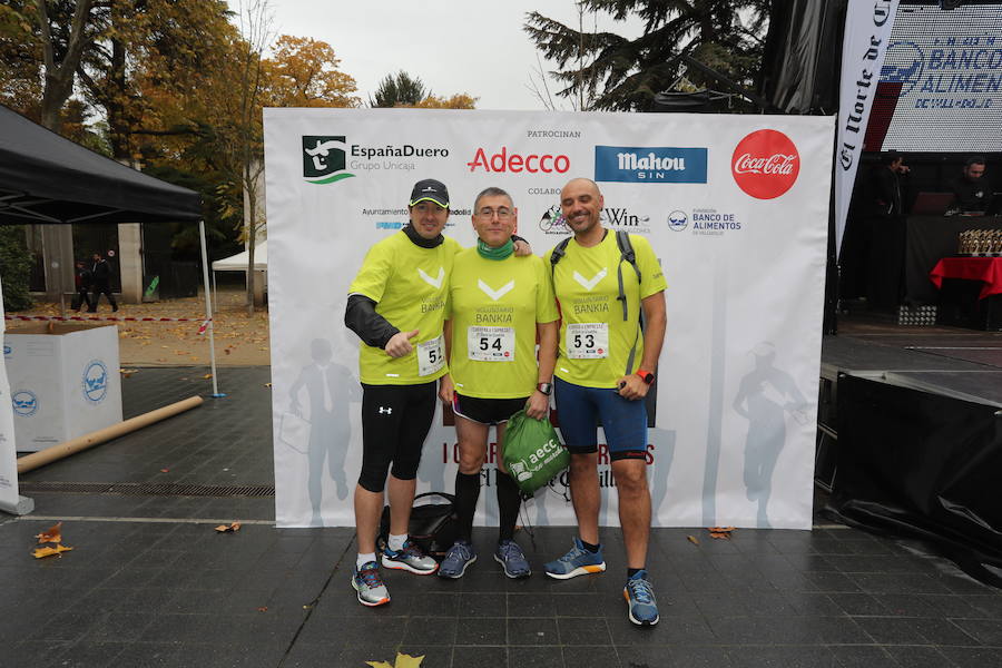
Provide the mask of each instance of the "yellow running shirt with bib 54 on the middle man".
{"label": "yellow running shirt with bib 54 on the middle man", "polygon": [[559,316],[540,257],[455,256],[446,317],[452,320],[450,373],[455,391],[479,399],[518,399],[536,390],[536,324]]}

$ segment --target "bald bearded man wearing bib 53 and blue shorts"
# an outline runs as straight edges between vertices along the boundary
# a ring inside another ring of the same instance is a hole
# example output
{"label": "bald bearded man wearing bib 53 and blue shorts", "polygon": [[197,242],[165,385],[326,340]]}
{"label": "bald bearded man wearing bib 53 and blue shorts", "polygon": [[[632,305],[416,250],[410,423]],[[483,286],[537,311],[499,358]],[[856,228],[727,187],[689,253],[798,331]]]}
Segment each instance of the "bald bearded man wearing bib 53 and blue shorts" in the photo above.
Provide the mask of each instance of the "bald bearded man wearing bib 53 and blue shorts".
{"label": "bald bearded man wearing bib 53 and blue shorts", "polygon": [[562,315],[553,384],[560,432],[571,453],[570,492],[579,537],[544,569],[559,580],[606,570],[598,533],[598,419],[619,497],[629,618],[652,626],[658,608],[646,567],[650,490],[644,399],[665,340],[666,283],[646,238],[602,227],[603,204],[595,181],[569,181],[560,208],[574,236],[546,257]]}

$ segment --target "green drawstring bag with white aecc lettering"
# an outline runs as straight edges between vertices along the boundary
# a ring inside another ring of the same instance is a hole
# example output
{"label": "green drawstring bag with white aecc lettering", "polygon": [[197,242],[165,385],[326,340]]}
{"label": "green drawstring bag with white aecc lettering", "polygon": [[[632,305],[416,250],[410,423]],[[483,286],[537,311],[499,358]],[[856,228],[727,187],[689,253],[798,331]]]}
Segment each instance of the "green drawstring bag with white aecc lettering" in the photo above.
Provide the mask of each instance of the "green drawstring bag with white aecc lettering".
{"label": "green drawstring bag with white aecc lettering", "polygon": [[504,430],[504,468],[527,494],[536,493],[570,464],[570,453],[549,420],[519,411]]}

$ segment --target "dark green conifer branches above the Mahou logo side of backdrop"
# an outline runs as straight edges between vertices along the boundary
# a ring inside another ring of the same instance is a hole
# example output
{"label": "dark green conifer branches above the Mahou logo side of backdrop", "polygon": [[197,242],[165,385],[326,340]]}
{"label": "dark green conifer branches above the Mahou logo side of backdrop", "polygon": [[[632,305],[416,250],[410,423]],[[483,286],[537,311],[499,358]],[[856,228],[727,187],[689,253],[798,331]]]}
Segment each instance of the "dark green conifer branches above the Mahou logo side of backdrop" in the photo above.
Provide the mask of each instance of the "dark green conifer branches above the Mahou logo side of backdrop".
{"label": "dark green conifer branches above the Mahou logo side of backdrop", "polygon": [[762,60],[769,0],[581,0],[579,8],[605,12],[616,21],[638,17],[644,35],[573,29],[539,12],[524,26],[537,48],[553,60],[564,88],[557,95],[593,100],[590,108],[642,111],[655,96],[685,76],[716,85],[686,67],[682,56],[749,88]]}

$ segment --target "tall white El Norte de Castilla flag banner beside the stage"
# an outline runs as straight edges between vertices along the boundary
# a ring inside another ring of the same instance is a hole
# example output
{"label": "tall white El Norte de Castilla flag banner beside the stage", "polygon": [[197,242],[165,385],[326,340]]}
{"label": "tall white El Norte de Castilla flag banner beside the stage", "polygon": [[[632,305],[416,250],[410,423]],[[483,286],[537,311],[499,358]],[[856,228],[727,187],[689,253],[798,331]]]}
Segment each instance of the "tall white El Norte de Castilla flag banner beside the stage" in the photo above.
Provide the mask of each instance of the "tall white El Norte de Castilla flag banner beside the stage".
{"label": "tall white El Norte de Castilla flag banner beside the stage", "polygon": [[838,168],[835,170],[835,254],[848,216],[853,184],[859,168],[870,109],[881,80],[881,67],[891,41],[897,0],[849,2],[842,40],[842,85],[838,89]]}

